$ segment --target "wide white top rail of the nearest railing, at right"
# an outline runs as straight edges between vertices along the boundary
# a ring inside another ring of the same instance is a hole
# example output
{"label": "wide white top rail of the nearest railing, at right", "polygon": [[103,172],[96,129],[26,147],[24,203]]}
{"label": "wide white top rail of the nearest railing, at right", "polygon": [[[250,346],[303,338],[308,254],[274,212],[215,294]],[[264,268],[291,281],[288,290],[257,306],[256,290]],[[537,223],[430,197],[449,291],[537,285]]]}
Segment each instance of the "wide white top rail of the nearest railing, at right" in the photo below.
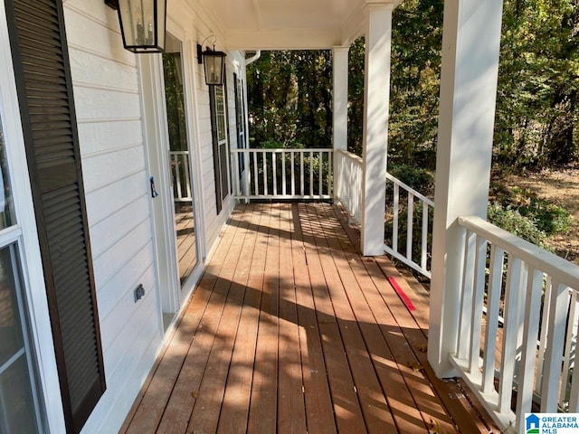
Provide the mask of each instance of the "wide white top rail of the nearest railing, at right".
{"label": "wide white top rail of the nearest railing, at right", "polygon": [[517,235],[498,228],[480,217],[459,217],[460,226],[467,228],[501,249],[523,259],[528,265],[541,270],[575,291],[579,290],[579,266],[554,253],[541,249],[535,244],[525,241]]}

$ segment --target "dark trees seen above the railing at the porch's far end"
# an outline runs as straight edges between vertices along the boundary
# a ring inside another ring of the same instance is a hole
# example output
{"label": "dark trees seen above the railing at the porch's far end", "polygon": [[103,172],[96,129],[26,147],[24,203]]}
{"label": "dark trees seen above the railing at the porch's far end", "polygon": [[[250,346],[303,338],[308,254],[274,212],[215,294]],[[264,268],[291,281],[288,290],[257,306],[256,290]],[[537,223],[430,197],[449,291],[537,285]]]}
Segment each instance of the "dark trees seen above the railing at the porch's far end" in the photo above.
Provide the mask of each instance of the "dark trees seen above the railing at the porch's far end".
{"label": "dark trees seen above the railing at the porch's far end", "polygon": [[331,147],[329,51],[263,52],[247,71],[252,147]]}

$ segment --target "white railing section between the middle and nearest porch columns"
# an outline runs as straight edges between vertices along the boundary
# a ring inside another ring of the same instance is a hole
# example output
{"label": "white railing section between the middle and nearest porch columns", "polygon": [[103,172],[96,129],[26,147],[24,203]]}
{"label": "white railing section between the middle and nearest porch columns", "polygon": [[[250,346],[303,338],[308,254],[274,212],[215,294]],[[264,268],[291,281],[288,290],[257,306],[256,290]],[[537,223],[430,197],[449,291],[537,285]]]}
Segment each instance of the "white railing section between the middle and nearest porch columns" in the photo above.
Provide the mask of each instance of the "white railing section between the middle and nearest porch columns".
{"label": "white railing section between the middle and nearest porch columns", "polygon": [[[434,203],[418,193],[409,185],[404,184],[393,175],[386,174],[386,187],[392,183],[392,235],[389,241],[384,242],[384,251],[394,258],[401,260],[407,266],[431,278],[430,256],[432,252],[429,233],[432,231],[431,218]],[[401,194],[401,189],[403,194]],[[405,226],[400,222],[403,206],[401,197],[406,197]],[[414,215],[417,212],[417,215]],[[415,224],[415,221],[418,224]],[[402,233],[401,233],[402,232]],[[405,232],[405,233],[403,233]],[[388,239],[388,237],[386,237]],[[404,241],[405,248],[399,249],[400,240]]]}

